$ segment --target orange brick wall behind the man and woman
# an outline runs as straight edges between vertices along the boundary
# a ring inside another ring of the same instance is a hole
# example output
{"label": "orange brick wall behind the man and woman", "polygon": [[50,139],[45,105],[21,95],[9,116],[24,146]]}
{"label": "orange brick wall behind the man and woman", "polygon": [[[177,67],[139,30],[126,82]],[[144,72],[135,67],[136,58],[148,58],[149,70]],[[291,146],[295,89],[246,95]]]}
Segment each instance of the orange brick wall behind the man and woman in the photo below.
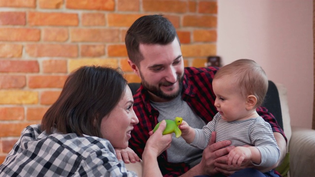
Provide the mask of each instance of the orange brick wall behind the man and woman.
{"label": "orange brick wall behind the man and woman", "polygon": [[77,67],[109,64],[139,82],[125,33],[140,16],[160,13],[178,31],[185,66],[216,54],[217,0],[0,0],[0,163]]}

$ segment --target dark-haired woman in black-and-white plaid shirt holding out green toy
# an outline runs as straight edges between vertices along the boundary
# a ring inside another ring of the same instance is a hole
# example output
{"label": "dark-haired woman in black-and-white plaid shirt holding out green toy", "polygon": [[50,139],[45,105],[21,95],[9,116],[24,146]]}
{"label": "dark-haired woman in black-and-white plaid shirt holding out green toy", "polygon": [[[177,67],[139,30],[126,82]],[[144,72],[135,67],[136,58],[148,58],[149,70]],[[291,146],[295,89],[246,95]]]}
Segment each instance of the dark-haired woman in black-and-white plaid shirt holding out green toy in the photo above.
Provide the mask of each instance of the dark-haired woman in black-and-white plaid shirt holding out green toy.
{"label": "dark-haired woman in black-and-white plaid shirt holding out green toy", "polygon": [[[41,124],[25,128],[0,166],[1,177],[134,177],[114,148],[127,148],[133,125],[131,90],[112,68],[83,66],[71,73]],[[162,176],[157,156],[169,148],[166,123],[146,144],[143,176]]]}

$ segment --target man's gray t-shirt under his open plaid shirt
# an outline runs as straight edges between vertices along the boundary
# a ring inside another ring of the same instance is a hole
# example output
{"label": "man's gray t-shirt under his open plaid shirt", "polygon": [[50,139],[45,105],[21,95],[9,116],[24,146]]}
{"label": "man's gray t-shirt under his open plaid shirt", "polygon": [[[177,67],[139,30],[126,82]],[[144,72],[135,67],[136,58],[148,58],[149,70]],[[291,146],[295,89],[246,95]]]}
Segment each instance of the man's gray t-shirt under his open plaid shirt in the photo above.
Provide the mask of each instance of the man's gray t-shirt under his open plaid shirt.
{"label": "man's gray t-shirt under his open plaid shirt", "polygon": [[[175,117],[181,117],[189,126],[201,129],[206,123],[199,118],[183,101],[181,95],[177,98],[164,103],[151,101],[151,105],[158,110],[158,122],[164,119],[174,120]],[[201,161],[202,149],[195,148],[186,143],[182,138],[176,138],[173,133],[171,147],[167,149],[167,161],[171,163],[188,163],[190,167],[197,165]]]}

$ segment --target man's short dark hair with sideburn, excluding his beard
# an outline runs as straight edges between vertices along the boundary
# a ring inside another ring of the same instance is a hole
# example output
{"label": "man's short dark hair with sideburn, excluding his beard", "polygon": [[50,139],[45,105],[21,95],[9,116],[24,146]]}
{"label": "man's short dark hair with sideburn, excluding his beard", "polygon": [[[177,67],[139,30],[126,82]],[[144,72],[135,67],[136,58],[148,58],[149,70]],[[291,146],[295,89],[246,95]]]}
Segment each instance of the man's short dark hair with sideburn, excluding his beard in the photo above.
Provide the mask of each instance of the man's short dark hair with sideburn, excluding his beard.
{"label": "man's short dark hair with sideburn, excluding his beard", "polygon": [[[162,15],[146,15],[138,18],[126,32],[125,43],[129,59],[139,66],[143,56],[140,44],[166,45],[178,36],[172,23]],[[180,42],[179,42],[180,43]]]}

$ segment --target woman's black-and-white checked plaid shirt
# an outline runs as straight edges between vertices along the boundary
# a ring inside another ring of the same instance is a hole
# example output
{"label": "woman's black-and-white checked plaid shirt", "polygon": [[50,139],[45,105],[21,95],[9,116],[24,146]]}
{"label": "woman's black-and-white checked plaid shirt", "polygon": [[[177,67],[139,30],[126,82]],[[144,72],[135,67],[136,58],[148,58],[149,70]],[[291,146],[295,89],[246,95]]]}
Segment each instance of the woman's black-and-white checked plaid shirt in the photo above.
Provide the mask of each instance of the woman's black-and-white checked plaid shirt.
{"label": "woman's black-and-white checked plaid shirt", "polygon": [[0,166],[1,177],[135,177],[118,161],[109,141],[26,127]]}

